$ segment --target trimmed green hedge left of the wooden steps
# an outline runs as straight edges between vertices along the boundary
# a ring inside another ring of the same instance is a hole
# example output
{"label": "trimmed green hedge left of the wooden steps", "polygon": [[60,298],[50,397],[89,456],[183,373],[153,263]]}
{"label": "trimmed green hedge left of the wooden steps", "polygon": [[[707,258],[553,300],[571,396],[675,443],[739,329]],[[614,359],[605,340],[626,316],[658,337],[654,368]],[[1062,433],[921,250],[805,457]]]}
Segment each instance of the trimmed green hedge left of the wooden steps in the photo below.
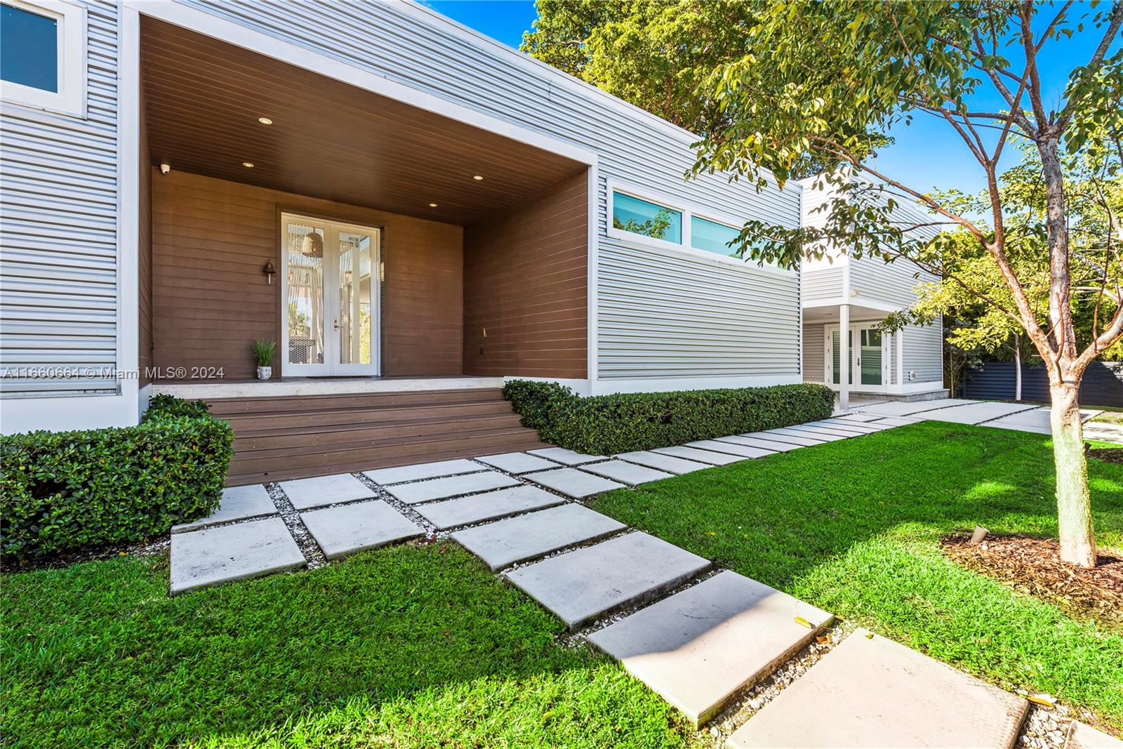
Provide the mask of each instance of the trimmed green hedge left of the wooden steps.
{"label": "trimmed green hedge left of the wooden steps", "polygon": [[234,430],[202,401],[152,399],[136,427],[0,438],[6,561],[136,541],[218,509]]}

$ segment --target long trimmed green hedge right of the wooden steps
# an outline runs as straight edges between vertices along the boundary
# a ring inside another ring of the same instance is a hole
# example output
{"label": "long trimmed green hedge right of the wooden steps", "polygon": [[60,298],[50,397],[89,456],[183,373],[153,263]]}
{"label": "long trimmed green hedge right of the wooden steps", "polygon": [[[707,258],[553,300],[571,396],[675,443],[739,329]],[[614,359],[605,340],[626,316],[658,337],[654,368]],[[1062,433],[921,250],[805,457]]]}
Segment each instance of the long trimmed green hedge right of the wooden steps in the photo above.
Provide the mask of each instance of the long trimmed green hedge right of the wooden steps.
{"label": "long trimmed green hedge right of the wooden steps", "polygon": [[512,380],[503,394],[544,440],[592,455],[776,429],[834,409],[834,393],[810,383],[581,398],[557,383]]}

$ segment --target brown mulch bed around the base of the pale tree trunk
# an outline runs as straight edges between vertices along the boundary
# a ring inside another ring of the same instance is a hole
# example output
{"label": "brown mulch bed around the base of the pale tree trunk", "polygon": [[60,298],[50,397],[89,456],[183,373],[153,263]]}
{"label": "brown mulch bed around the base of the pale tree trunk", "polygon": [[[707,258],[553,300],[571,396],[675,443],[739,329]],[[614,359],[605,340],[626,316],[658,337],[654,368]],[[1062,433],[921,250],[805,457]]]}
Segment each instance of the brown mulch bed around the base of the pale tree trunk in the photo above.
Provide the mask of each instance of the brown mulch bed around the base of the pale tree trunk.
{"label": "brown mulch bed around the base of the pale tree trunk", "polygon": [[[1121,450],[1123,451],[1123,450]],[[947,536],[943,551],[957,564],[1049,601],[1076,616],[1113,629],[1123,627],[1123,559],[1101,554],[1093,569],[1060,560],[1057,541],[1028,536],[988,536],[978,545],[970,536]]]}

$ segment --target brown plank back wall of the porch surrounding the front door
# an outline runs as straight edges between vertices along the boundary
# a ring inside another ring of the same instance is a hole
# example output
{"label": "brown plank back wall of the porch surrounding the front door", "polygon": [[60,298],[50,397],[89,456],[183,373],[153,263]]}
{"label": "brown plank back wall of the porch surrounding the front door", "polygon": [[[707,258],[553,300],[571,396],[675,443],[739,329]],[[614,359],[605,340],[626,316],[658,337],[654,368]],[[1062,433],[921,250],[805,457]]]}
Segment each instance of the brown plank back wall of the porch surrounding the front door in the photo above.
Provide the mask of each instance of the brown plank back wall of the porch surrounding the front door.
{"label": "brown plank back wall of the porch surrounding the front door", "polygon": [[250,344],[281,340],[281,283],[262,267],[272,258],[280,271],[280,213],[292,211],[383,230],[384,375],[462,374],[459,226],[174,168],[150,179],[156,366],[254,375]]}

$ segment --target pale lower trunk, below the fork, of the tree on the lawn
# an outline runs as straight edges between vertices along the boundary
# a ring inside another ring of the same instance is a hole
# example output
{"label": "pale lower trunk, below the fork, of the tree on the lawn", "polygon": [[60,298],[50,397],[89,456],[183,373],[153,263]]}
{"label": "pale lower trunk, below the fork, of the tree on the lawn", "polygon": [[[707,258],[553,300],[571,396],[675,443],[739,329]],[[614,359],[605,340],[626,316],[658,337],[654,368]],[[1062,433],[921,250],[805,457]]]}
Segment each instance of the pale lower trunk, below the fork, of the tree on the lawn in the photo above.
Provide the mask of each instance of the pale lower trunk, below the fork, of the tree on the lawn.
{"label": "pale lower trunk, below the fork, of the tree on the lawn", "polygon": [[1092,493],[1084,457],[1079,382],[1050,382],[1049,392],[1052,396],[1050,422],[1057,464],[1060,558],[1080,567],[1095,567],[1096,541],[1092,533]]}

